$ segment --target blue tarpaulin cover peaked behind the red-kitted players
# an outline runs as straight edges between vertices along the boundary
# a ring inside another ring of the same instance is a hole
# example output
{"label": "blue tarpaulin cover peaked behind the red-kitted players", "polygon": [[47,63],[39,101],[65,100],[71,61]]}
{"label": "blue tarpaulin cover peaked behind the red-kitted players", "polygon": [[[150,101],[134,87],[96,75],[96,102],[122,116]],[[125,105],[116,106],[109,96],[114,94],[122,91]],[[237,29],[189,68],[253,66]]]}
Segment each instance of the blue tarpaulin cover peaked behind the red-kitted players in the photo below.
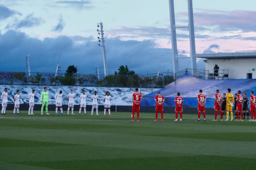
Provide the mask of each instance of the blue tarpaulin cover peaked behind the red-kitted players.
{"label": "blue tarpaulin cover peaked behind the red-kitted players", "polygon": [[186,73],[163,89],[144,95],[141,105],[155,106],[155,96],[158,92],[161,92],[165,99],[163,105],[173,107],[175,106],[174,99],[177,97],[177,92],[180,92],[184,99],[184,107],[197,107],[197,95],[199,90],[202,89],[207,98],[205,107],[214,107],[216,89],[219,89],[220,94],[223,95],[223,93],[228,93],[228,88],[231,89],[233,95],[237,91],[241,91],[242,94],[246,93],[250,100],[250,91],[256,89],[256,79],[200,79]]}

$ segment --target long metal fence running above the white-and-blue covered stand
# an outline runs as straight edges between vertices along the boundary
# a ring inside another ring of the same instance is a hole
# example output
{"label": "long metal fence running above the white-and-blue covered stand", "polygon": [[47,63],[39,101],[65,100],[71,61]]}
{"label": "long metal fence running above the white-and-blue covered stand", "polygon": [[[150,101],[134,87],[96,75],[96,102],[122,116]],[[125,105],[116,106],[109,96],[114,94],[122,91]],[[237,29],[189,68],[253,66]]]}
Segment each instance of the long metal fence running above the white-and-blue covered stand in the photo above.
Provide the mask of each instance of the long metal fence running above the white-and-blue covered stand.
{"label": "long metal fence running above the white-and-blue covered stand", "polygon": [[161,88],[174,79],[190,73],[197,78],[205,78],[205,70],[185,69],[173,73],[156,73],[148,75],[85,75],[58,73],[31,73],[0,71],[0,84],[46,85],[46,86],[96,86],[96,87],[157,87]]}

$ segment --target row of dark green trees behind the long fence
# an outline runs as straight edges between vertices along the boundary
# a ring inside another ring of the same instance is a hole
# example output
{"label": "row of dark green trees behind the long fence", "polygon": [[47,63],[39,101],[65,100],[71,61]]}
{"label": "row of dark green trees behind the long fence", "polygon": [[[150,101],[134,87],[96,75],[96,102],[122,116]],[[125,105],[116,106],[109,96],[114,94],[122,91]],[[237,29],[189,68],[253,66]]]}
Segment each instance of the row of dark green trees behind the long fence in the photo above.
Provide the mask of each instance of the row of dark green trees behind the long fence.
{"label": "row of dark green trees behind the long fence", "polygon": [[35,73],[28,76],[25,72],[0,72],[1,84],[62,85],[62,86],[105,86],[105,87],[163,87],[174,81],[173,76],[139,76],[127,65],[121,65],[114,75],[98,79],[96,75],[82,75],[71,65],[66,73]]}

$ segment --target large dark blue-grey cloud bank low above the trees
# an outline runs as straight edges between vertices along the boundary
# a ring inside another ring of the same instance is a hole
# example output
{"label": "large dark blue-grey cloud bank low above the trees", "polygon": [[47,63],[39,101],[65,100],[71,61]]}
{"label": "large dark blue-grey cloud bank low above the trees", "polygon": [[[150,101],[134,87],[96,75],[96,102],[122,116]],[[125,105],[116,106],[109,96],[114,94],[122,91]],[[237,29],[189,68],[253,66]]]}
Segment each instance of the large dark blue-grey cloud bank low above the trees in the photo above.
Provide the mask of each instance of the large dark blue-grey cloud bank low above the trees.
{"label": "large dark blue-grey cloud bank low above the trees", "polygon": [[[139,74],[166,72],[173,70],[172,50],[157,48],[155,41],[122,41],[106,38],[106,57],[109,74],[114,74],[120,65],[128,65]],[[100,67],[103,74],[103,52],[98,41],[92,37],[58,36],[45,38],[43,41],[31,38],[25,33],[9,30],[0,33],[0,59],[5,63],[1,71],[27,71],[25,56],[30,54],[32,72],[54,73],[61,54],[61,70],[69,65],[77,65],[79,73],[95,74],[95,67]],[[179,56],[185,56],[180,54]],[[180,69],[189,64],[187,59],[180,60]],[[189,65],[190,67],[190,65]]]}

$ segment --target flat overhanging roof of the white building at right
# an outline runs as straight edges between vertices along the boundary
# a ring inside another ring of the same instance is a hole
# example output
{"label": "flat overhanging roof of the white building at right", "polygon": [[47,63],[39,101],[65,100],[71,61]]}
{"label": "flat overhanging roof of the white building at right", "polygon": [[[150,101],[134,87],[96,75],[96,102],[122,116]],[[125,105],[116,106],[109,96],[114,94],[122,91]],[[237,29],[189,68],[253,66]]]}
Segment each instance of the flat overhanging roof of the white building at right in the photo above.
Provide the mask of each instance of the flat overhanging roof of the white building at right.
{"label": "flat overhanging roof of the white building at right", "polygon": [[235,52],[235,53],[215,53],[215,54],[195,54],[196,58],[203,59],[236,59],[236,58],[256,58],[256,52]]}

